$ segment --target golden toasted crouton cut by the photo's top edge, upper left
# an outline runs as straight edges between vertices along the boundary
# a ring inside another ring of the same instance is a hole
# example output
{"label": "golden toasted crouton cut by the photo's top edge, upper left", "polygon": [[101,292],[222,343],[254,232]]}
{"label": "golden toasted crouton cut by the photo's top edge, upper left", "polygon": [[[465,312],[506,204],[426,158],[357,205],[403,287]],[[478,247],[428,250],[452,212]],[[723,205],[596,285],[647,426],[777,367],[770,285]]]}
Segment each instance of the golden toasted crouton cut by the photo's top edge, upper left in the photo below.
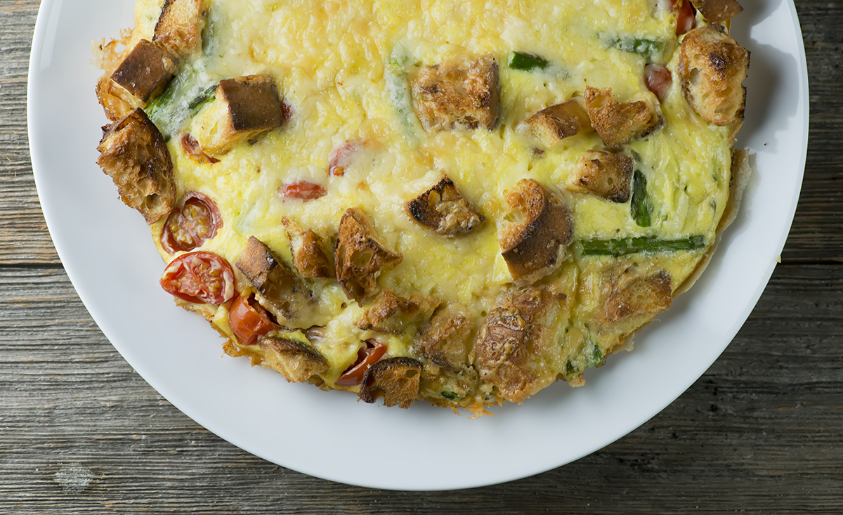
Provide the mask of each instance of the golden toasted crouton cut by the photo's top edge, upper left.
{"label": "golden toasted crouton cut by the photo's top edge, upper left", "polygon": [[180,58],[202,46],[202,29],[207,20],[206,0],[166,0],[153,41]]}

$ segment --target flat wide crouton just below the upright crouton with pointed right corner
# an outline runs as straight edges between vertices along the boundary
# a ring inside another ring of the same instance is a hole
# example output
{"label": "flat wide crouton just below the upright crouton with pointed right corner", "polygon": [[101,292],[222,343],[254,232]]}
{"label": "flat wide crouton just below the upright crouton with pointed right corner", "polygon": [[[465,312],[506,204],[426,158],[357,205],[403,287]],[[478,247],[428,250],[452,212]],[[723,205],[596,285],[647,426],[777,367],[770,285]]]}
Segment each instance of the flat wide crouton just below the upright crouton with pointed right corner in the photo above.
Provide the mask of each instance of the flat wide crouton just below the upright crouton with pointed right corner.
{"label": "flat wide crouton just below the upright crouton with pointed right corner", "polygon": [[398,335],[407,325],[421,321],[419,319],[436,308],[437,304],[421,295],[403,298],[386,289],[380,293],[372,306],[366,309],[362,317],[354,321],[354,325],[361,330]]}

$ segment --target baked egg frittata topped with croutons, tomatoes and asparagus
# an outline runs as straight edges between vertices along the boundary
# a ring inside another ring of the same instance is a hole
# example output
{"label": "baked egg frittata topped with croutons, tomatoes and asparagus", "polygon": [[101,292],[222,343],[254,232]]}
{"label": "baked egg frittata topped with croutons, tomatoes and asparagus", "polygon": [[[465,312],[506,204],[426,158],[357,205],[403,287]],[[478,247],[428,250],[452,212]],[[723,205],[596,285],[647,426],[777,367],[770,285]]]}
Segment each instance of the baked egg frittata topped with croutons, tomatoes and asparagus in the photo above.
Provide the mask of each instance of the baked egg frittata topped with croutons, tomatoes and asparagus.
{"label": "baked egg frittata topped with croutons, tomatoes and asparagus", "polygon": [[734,0],[138,0],[99,165],[161,286],[288,381],[482,413],[583,384],[737,209]]}

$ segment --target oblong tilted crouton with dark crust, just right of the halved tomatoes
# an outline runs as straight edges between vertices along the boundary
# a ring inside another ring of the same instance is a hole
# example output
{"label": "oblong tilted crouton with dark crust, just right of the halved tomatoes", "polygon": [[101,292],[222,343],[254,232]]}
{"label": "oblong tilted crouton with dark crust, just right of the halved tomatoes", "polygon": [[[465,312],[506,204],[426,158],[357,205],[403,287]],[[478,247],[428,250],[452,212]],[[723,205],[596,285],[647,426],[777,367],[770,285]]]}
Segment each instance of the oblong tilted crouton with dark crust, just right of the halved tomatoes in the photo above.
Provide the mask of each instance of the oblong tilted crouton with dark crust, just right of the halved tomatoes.
{"label": "oblong tilted crouton with dark crust, just right of the halved tomatoes", "polygon": [[313,301],[313,292],[302,280],[254,236],[249,237],[236,265],[274,308],[272,312],[277,315],[278,322],[295,327],[303,308]]}

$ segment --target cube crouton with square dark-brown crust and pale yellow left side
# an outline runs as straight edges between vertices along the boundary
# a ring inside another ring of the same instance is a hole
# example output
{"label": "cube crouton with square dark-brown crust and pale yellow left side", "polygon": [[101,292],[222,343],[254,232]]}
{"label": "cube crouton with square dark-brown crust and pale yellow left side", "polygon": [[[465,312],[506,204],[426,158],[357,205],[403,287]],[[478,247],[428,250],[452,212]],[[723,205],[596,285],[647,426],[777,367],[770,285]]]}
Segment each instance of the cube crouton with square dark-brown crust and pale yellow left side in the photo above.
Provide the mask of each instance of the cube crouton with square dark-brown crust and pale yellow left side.
{"label": "cube crouton with square dark-brown crust and pale yellow left side", "polygon": [[220,81],[216,101],[197,119],[199,128],[195,136],[202,150],[221,155],[280,127],[284,115],[272,78],[248,75]]}

